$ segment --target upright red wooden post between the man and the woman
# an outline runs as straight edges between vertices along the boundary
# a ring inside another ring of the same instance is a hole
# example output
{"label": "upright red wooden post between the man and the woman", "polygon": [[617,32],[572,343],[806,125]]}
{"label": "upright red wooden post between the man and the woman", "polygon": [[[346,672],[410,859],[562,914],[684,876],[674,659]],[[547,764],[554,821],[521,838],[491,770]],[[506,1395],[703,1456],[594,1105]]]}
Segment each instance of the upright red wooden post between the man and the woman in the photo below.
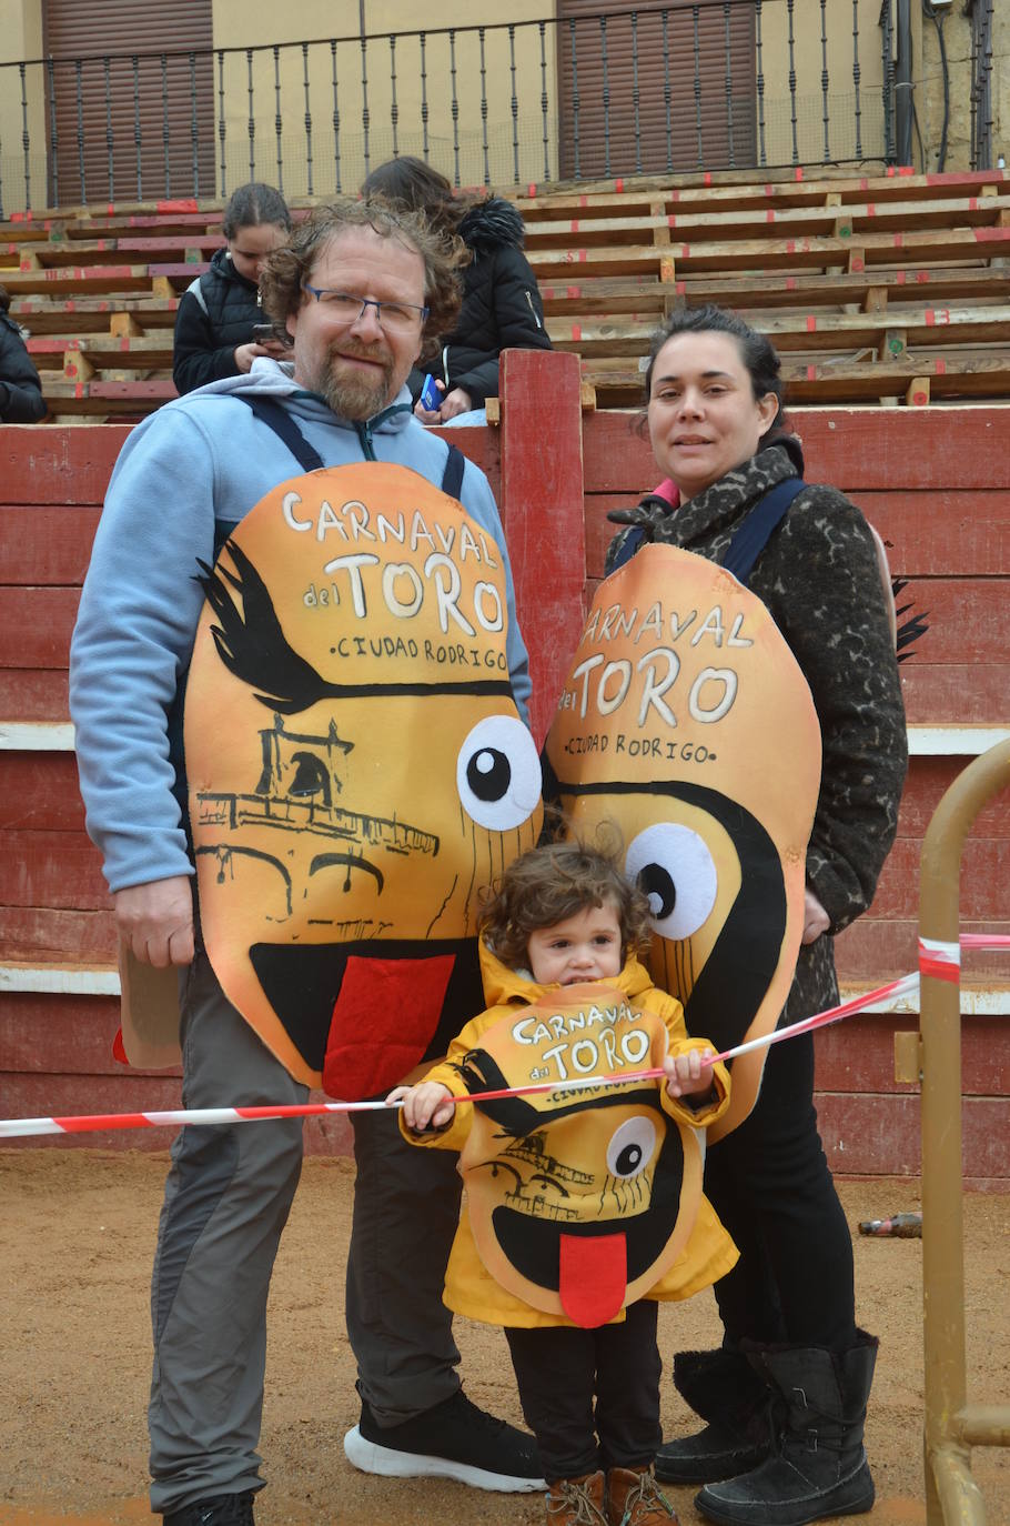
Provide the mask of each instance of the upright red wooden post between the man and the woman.
{"label": "upright red wooden post between the man and the woman", "polygon": [[502,356],[499,507],[529,652],[529,723],[540,743],[583,632],[586,510],[578,356]]}

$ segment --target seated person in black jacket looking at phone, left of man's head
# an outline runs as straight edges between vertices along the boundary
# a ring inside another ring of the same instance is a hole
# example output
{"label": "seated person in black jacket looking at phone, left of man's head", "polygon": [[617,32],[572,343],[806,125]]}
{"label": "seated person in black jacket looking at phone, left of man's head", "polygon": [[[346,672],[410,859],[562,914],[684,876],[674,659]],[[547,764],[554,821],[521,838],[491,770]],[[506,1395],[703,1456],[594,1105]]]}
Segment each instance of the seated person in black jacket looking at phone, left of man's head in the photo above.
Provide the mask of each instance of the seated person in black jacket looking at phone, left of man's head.
{"label": "seated person in black jacket looking at phone, left of man's head", "polygon": [[290,349],[281,339],[256,339],[265,324],[259,307],[259,273],[265,258],[287,244],[291,217],[279,191],[252,180],[240,186],[224,208],[227,244],[211,269],[182,295],[175,313],[172,380],[192,392],[207,382],[249,371],[256,356],[284,360]]}

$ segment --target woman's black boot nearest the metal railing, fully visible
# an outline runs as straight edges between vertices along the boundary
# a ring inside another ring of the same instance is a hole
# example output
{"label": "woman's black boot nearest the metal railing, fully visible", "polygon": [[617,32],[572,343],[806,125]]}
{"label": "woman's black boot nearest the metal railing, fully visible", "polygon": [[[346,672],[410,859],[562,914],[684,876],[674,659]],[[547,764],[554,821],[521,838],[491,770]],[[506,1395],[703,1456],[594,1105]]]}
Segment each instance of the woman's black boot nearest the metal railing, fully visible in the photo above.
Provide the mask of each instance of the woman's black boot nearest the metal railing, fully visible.
{"label": "woman's black boot nearest the metal railing, fully visible", "polygon": [[702,1515],[720,1526],[806,1526],[873,1506],[862,1433],[877,1340],[865,1331],[856,1334],[856,1344],[844,1352],[748,1349],[755,1372],[786,1404],[781,1445],[752,1473],[703,1488],[694,1500]]}

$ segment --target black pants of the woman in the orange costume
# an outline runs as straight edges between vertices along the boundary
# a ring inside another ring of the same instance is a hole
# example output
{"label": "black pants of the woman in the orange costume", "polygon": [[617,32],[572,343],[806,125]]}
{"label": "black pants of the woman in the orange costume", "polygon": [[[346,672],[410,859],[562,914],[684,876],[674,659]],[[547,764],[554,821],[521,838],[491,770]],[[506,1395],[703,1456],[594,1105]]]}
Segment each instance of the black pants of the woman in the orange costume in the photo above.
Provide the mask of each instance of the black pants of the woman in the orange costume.
{"label": "black pants of the woman in the orange costume", "polygon": [[754,1112],[708,1149],[705,1195],[740,1251],[716,1283],[729,1341],[851,1346],[853,1244],[818,1134],[809,1033],[769,1050]]}

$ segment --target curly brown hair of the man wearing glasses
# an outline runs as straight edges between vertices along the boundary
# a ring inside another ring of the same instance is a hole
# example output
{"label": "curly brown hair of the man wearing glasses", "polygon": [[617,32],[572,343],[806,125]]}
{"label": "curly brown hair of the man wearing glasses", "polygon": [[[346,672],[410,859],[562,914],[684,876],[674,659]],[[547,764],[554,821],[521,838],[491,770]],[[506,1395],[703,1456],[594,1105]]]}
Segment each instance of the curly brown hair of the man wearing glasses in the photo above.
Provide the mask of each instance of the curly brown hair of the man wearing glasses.
{"label": "curly brown hair of the man wearing glasses", "polygon": [[290,241],[275,249],[259,276],[259,301],[267,317],[282,330],[304,301],[302,284],[331,238],[349,227],[371,227],[380,238],[395,238],[424,262],[424,304],[429,308],[424,339],[453,330],[462,302],[459,269],[467,261],[461,240],[447,243],[433,233],[420,212],[384,201],[331,201],[299,223]]}

